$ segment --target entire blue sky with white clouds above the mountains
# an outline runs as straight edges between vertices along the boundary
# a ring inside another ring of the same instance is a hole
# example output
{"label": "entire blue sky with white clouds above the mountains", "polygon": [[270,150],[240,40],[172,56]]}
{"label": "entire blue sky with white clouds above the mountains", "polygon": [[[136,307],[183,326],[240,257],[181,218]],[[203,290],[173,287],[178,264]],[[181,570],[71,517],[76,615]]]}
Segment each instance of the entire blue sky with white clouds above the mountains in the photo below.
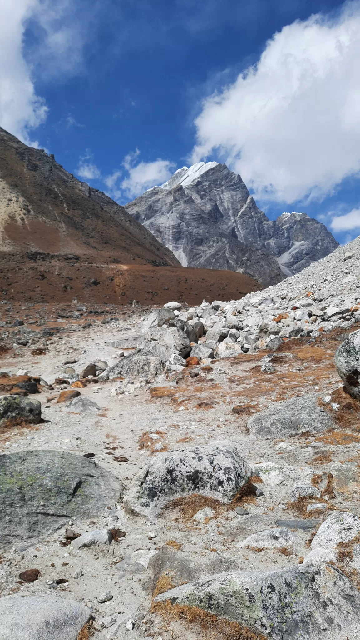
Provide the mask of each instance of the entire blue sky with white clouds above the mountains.
{"label": "entire blue sky with white clouds above the mountains", "polygon": [[0,125],[124,204],[202,159],[360,233],[360,4],[3,0]]}

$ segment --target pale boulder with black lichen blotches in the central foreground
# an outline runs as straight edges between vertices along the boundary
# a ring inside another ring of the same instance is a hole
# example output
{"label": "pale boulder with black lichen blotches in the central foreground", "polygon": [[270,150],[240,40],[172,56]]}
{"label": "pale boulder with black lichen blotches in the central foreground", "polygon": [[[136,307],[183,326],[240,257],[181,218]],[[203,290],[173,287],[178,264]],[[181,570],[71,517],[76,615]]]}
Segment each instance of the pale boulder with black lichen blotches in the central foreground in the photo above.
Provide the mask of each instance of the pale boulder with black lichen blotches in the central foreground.
{"label": "pale boulder with black lichen blotches in the central foreground", "polygon": [[198,493],[229,504],[251,476],[251,467],[228,442],[160,453],[125,496],[125,507],[156,516],[167,502]]}

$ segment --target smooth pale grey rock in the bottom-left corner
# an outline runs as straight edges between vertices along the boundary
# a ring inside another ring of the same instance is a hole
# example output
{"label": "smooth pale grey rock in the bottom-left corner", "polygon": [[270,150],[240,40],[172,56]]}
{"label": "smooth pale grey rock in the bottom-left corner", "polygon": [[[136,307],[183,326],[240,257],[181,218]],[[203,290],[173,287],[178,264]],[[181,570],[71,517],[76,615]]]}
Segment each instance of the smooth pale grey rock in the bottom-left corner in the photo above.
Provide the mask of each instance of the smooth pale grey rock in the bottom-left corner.
{"label": "smooth pale grey rock in the bottom-left corner", "polygon": [[91,610],[51,595],[0,598],[1,640],[77,640]]}

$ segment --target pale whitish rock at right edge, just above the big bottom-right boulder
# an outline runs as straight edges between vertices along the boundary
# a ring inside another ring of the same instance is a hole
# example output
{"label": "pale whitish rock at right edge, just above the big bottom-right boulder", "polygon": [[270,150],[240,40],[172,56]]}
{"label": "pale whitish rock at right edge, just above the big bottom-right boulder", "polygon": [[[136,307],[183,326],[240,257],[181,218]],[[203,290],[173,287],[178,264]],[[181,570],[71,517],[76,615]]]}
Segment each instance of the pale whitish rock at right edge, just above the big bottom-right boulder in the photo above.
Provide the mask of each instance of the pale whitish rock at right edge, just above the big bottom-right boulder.
{"label": "pale whitish rock at right edge, just above the big bottom-right boulder", "polygon": [[318,528],[311,548],[335,548],[339,542],[350,542],[360,533],[360,520],[348,511],[334,511]]}

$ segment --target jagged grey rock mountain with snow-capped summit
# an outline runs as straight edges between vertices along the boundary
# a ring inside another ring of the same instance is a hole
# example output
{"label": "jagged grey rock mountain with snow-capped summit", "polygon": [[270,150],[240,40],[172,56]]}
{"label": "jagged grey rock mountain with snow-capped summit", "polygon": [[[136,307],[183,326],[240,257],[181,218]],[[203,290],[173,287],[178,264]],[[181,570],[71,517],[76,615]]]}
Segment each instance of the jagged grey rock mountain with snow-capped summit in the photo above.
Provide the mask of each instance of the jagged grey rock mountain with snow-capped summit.
{"label": "jagged grey rock mountain with snow-capped summit", "polygon": [[264,286],[299,273],[338,243],[305,213],[269,220],[225,164],[183,167],[125,207],[183,266],[231,269]]}

